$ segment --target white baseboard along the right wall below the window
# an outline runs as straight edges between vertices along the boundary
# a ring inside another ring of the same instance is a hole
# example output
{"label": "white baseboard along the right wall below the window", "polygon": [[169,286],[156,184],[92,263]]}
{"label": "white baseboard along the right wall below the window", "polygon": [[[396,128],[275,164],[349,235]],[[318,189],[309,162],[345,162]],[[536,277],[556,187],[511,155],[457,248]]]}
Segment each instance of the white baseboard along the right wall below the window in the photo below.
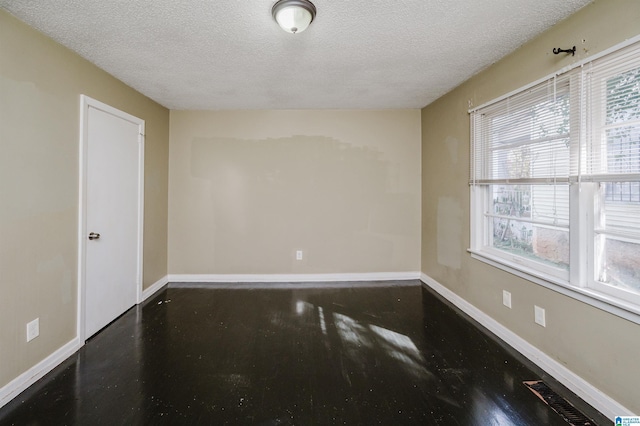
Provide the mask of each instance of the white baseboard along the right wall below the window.
{"label": "white baseboard along the right wall below the window", "polygon": [[538,367],[549,373],[553,378],[566,386],[573,393],[582,398],[585,402],[599,410],[610,419],[616,416],[631,416],[631,410],[623,407],[620,403],[600,391],[598,388],[578,376],[531,343],[509,330],[480,309],[473,306],[433,278],[426,274],[421,274],[420,279],[427,286],[432,288],[442,297],[457,306],[465,314],[486,327],[493,334],[502,339],[509,346],[520,352]]}

